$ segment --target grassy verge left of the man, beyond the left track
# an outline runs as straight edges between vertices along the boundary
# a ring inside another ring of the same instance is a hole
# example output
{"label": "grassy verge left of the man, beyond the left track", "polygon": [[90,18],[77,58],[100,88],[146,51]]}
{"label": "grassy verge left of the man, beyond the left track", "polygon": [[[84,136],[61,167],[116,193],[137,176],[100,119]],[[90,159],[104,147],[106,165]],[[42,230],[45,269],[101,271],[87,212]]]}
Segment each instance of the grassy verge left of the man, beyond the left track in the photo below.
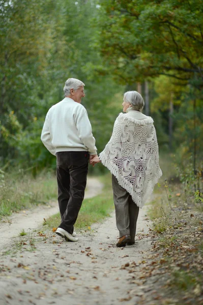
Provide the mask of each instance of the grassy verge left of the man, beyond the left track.
{"label": "grassy verge left of the man, beyond the left track", "polygon": [[4,186],[0,190],[0,219],[33,205],[47,204],[56,198],[56,194],[53,173],[42,172],[37,178],[18,172],[6,173]]}

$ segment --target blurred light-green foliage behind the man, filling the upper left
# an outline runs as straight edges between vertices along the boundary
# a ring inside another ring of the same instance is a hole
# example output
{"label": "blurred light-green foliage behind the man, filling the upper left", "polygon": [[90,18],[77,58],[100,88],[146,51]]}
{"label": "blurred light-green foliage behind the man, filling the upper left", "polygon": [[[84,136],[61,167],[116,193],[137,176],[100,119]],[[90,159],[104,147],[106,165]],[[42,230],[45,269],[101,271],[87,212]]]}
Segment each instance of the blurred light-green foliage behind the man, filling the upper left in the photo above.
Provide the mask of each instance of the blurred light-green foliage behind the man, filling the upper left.
{"label": "blurred light-green foliage behind the man, filling the upper left", "polygon": [[[109,106],[118,99],[118,88],[111,76],[97,72],[107,65],[102,63],[96,43],[96,5],[82,0],[1,1],[0,164],[5,169],[30,168],[35,176],[43,167],[55,166],[40,135],[45,115],[63,99],[69,77],[85,83],[83,105],[98,152],[109,140],[120,112],[119,107]],[[121,100],[120,95],[118,104]]]}

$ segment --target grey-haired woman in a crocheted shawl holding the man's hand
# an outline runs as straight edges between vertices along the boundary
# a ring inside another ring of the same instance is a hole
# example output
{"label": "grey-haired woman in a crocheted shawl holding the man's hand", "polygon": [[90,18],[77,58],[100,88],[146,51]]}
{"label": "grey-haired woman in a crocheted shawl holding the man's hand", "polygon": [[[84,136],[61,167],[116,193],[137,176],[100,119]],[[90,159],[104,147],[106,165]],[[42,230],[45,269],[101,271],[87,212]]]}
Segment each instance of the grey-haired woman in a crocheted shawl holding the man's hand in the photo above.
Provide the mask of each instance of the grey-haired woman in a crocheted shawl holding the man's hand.
{"label": "grey-haired woman in a crocheted shawl holding the man's hand", "polygon": [[124,94],[123,111],[114,123],[112,136],[99,158],[112,174],[115,217],[120,238],[117,247],[135,243],[139,208],[152,194],[161,177],[153,119],[141,113],[144,101],[136,91]]}

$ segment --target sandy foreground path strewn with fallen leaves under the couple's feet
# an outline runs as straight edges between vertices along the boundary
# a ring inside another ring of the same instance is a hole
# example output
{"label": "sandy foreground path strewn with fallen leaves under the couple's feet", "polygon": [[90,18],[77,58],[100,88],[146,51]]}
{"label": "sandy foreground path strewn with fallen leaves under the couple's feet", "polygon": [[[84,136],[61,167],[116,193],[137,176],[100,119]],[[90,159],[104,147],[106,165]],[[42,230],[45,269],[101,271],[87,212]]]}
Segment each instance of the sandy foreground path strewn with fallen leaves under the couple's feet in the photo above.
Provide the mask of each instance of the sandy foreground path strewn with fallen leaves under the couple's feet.
{"label": "sandy foreground path strewn with fallen leaves under the couple's feet", "polygon": [[151,288],[142,285],[140,267],[152,246],[146,209],[133,246],[115,247],[114,213],[77,235],[78,242],[39,230],[15,238],[0,259],[0,304],[135,305],[144,299]]}

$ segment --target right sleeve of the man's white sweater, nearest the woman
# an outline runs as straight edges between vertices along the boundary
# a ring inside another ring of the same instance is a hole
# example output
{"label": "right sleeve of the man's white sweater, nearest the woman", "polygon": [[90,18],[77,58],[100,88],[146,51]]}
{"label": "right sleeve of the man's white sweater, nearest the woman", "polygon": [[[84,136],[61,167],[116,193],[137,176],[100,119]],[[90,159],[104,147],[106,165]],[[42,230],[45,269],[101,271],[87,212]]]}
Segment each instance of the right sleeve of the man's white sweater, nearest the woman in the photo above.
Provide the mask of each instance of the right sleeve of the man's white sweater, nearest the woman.
{"label": "right sleeve of the man's white sweater, nearest the woman", "polygon": [[78,137],[88,148],[90,155],[96,155],[97,147],[95,146],[95,138],[93,137],[92,126],[85,108],[82,109],[79,115],[76,115],[75,123],[77,127]]}

